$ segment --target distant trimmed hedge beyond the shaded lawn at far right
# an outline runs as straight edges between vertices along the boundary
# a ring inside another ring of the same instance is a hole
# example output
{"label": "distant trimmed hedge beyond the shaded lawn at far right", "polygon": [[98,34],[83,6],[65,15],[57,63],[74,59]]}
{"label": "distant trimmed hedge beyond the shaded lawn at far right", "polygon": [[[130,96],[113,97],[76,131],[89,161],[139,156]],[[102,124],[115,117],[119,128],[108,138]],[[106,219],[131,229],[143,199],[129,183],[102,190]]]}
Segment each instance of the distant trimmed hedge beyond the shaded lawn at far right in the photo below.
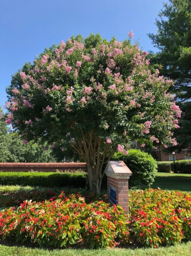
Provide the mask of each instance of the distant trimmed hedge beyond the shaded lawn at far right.
{"label": "distant trimmed hedge beyond the shaded lawn at far right", "polygon": [[[174,170],[175,162],[175,170]],[[191,160],[157,162],[157,170],[161,173],[191,173]]]}

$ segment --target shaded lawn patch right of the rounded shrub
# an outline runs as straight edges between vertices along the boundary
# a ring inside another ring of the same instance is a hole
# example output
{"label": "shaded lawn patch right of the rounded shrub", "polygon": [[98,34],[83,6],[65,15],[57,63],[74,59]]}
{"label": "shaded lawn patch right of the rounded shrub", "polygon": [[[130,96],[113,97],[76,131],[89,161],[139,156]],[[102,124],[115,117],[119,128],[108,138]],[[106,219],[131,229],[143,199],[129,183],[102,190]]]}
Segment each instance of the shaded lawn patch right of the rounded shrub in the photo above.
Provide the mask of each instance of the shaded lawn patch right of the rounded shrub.
{"label": "shaded lawn patch right of the rounded shrub", "polygon": [[180,190],[191,192],[191,174],[157,173],[153,189]]}

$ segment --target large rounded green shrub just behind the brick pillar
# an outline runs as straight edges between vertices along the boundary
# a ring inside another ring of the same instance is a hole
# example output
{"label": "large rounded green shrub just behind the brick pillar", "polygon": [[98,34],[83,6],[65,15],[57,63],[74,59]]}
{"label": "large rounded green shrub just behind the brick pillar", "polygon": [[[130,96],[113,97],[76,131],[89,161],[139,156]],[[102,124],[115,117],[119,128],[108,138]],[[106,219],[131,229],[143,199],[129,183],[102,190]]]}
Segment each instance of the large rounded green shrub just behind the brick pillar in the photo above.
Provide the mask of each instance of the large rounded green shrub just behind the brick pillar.
{"label": "large rounded green shrub just behind the brick pillar", "polygon": [[129,179],[129,187],[136,185],[152,185],[157,173],[157,161],[154,160],[152,155],[146,152],[130,149],[128,155],[122,152],[115,153],[112,157],[115,161],[124,161],[129,167],[132,175]]}

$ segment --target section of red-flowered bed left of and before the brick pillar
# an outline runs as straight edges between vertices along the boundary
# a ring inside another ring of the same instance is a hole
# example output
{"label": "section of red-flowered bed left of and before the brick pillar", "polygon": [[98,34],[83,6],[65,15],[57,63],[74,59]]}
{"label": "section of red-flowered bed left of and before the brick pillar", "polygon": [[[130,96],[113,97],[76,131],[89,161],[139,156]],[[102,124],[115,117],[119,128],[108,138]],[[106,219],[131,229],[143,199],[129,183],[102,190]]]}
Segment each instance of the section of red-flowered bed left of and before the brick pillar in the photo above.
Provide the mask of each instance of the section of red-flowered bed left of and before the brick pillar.
{"label": "section of red-flowered bed left of and before the brick pillar", "polygon": [[84,197],[65,196],[44,202],[24,201],[20,207],[0,212],[0,235],[17,242],[68,247],[112,247],[129,240],[128,219],[120,207],[103,202],[87,204]]}

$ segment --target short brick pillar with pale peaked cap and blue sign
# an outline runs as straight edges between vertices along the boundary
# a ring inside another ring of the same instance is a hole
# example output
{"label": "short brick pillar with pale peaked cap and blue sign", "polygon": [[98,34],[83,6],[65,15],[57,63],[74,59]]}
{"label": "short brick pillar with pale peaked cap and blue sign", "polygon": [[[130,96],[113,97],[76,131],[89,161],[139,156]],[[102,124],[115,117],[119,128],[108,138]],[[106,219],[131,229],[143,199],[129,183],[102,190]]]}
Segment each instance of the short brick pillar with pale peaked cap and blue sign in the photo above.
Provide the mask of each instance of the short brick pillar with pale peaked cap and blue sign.
{"label": "short brick pillar with pale peaked cap and blue sign", "polygon": [[106,167],[107,195],[111,204],[120,205],[129,213],[128,179],[132,174],[123,161],[109,161]]}

